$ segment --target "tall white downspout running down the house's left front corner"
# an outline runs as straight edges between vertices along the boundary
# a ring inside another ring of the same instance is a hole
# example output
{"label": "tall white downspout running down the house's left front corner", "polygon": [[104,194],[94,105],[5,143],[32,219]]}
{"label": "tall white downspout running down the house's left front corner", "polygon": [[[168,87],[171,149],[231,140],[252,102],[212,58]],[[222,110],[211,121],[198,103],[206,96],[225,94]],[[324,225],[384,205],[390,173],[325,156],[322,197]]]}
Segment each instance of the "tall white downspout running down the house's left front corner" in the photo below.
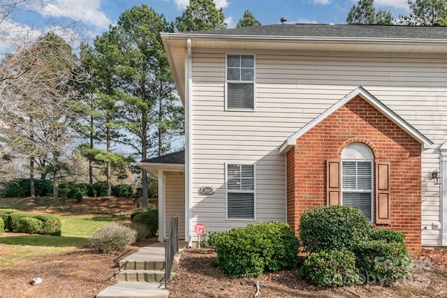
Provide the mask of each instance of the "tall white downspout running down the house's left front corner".
{"label": "tall white downspout running down the house's left front corner", "polygon": [[185,149],[185,241],[188,241],[188,246],[192,246],[192,168],[191,168],[191,86],[192,86],[192,55],[191,55],[191,38],[186,41],[187,53],[186,53],[186,67],[185,67],[185,138],[186,138],[186,149]]}

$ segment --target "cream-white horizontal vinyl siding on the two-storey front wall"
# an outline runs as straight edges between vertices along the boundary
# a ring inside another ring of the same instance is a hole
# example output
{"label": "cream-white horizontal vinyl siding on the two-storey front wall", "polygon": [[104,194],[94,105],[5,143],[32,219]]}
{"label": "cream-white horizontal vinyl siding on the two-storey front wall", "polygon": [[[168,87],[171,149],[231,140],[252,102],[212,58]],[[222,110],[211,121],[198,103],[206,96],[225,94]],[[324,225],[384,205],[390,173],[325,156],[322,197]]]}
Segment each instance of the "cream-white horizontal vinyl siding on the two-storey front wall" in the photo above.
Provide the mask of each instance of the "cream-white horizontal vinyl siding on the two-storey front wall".
{"label": "cream-white horizontal vinyl siding on the two-storey front wall", "polygon": [[[253,54],[253,53],[251,53]],[[256,112],[226,112],[226,53],[193,52],[192,227],[229,230],[247,222],[226,221],[223,164],[256,163],[256,221],[286,221],[284,140],[359,86],[390,107],[432,142],[422,154],[423,245],[441,245],[440,144],[447,140],[447,58],[398,58],[376,54],[257,52]],[[214,186],[213,195],[200,195]],[[427,230],[425,230],[425,228]]]}

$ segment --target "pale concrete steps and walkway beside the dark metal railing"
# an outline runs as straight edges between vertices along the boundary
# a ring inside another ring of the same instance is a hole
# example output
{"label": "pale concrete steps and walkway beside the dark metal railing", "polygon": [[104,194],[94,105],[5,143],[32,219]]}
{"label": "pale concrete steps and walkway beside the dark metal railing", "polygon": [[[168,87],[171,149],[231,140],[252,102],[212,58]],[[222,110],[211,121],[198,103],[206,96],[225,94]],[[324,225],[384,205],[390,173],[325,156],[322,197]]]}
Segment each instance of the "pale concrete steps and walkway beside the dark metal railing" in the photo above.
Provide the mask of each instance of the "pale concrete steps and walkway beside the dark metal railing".
{"label": "pale concrete steps and walkway beside the dark metal railing", "polygon": [[[187,246],[179,243],[180,251]],[[171,277],[175,275],[179,255],[175,256]],[[98,298],[168,298],[169,291],[165,288],[165,243],[158,242],[140,248],[123,260],[119,261],[119,272],[115,274],[117,283],[105,288]]]}

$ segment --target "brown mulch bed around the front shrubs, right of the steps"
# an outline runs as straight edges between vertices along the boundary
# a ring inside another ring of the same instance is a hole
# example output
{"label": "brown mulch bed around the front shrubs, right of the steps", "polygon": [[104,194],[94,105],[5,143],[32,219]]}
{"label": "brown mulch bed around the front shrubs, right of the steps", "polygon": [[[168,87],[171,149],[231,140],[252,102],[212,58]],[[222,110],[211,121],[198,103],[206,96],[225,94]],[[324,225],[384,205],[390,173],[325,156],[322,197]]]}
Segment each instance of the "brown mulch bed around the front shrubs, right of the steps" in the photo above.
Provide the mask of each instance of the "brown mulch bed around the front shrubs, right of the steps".
{"label": "brown mulch bed around the front shrubs, right of the steps", "polygon": [[423,250],[415,260],[415,274],[403,285],[381,287],[356,285],[343,288],[318,288],[300,278],[297,270],[264,274],[259,278],[228,278],[210,265],[217,258],[210,249],[186,249],[177,274],[168,284],[170,298],[254,297],[447,297],[447,253]]}

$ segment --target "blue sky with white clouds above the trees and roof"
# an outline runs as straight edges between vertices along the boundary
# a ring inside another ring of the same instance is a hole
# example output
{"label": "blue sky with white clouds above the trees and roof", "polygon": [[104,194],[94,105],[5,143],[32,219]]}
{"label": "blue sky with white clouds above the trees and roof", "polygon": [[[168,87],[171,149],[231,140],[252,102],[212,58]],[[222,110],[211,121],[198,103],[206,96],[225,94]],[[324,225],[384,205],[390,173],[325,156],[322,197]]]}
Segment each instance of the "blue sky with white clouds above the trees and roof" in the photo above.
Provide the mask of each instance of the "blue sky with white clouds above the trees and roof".
{"label": "blue sky with white clouds above the trees and roof", "polygon": [[[0,6],[10,0],[0,0]],[[357,0],[214,0],[223,8],[228,28],[235,27],[245,10],[262,24],[288,23],[342,24]],[[189,0],[26,0],[20,10],[0,23],[0,54],[7,46],[5,39],[36,38],[45,31],[56,31],[67,40],[94,38],[116,24],[119,15],[132,6],[145,3],[157,13],[174,21],[182,15]],[[409,14],[407,0],[375,0],[374,6],[391,10],[393,17]],[[74,23],[74,25],[73,25]]]}

